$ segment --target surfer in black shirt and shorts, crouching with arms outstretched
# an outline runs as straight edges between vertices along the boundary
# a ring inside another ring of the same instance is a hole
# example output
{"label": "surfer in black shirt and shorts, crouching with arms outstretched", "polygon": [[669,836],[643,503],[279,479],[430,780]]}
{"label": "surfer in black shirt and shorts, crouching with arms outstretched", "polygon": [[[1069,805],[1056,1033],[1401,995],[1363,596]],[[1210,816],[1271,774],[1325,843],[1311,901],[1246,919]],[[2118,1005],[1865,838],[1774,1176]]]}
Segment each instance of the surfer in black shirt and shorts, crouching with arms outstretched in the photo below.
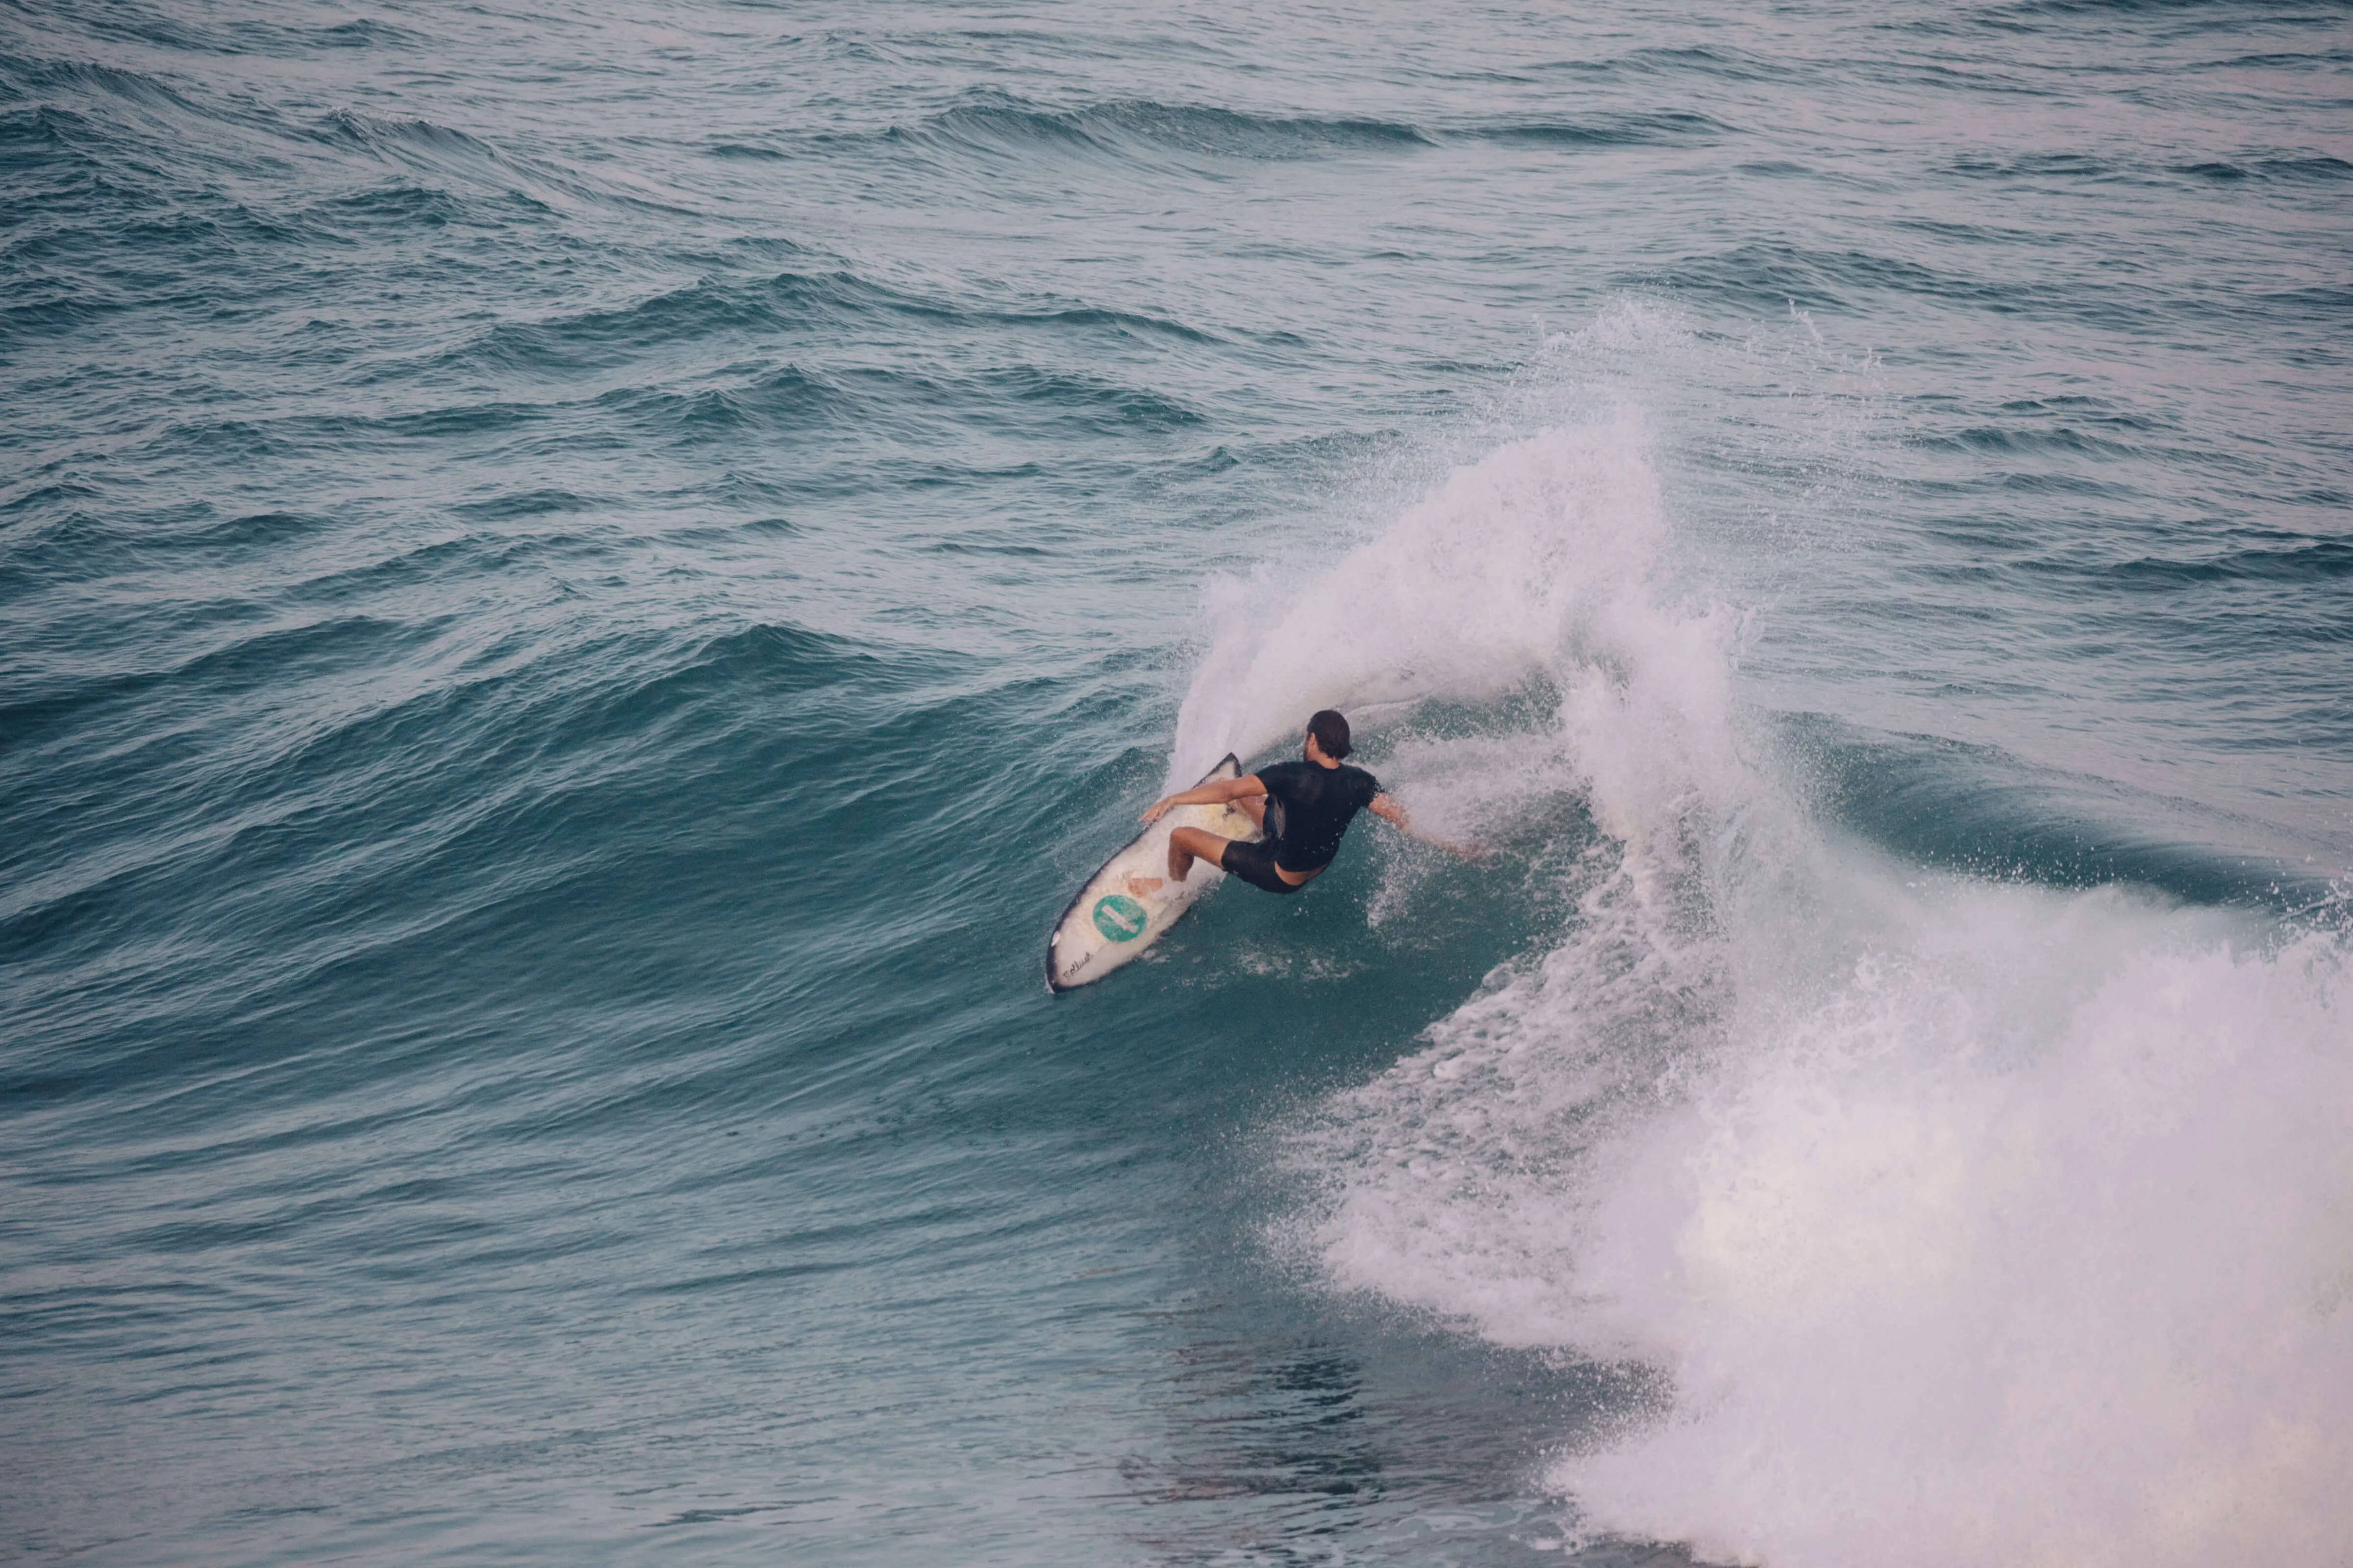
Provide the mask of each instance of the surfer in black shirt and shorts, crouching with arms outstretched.
{"label": "surfer in black shirt and shorts, crouching with arms outstretched", "polygon": [[[1412,823],[1405,820],[1405,806],[1381,792],[1379,778],[1341,762],[1348,750],[1348,719],[1325,708],[1308,719],[1304,762],[1278,762],[1257,773],[1217,778],[1153,802],[1151,811],[1144,813],[1146,823],[1158,823],[1169,806],[1231,802],[1259,825],[1254,842],[1228,839],[1205,827],[1179,827],[1169,835],[1169,882],[1184,882],[1193,872],[1193,860],[1207,860],[1228,877],[1240,877],[1268,893],[1297,893],[1332,865],[1339,837],[1348,832],[1358,811],[1372,811],[1400,832],[1464,860],[1478,858],[1475,849],[1414,832]],[[1165,884],[1160,877],[1129,877],[1127,886],[1141,898],[1158,893]]]}

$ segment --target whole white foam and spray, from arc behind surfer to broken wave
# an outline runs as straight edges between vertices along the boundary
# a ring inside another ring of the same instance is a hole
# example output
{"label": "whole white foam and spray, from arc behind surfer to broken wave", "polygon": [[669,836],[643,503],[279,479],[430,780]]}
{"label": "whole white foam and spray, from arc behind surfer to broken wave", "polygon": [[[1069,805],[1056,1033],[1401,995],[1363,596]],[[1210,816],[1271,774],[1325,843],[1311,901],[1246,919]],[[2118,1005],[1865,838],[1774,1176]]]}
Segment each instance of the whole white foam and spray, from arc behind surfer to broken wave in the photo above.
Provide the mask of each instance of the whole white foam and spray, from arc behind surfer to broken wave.
{"label": "whole white foam and spray, from arc behind surfer to broken wave", "polygon": [[[1826,837],[1748,759],[1732,616],[1666,592],[1664,543],[1609,421],[1464,468],[1273,618],[1214,607],[1172,773],[1325,703],[1539,679],[1558,712],[1504,752],[1602,830],[1555,950],[1287,1128],[1322,1190],[1289,1239],[1337,1288],[1664,1373],[1548,1460],[1593,1535],[2344,1563],[2344,940]],[[1414,748],[1438,797],[1499,759]]]}

